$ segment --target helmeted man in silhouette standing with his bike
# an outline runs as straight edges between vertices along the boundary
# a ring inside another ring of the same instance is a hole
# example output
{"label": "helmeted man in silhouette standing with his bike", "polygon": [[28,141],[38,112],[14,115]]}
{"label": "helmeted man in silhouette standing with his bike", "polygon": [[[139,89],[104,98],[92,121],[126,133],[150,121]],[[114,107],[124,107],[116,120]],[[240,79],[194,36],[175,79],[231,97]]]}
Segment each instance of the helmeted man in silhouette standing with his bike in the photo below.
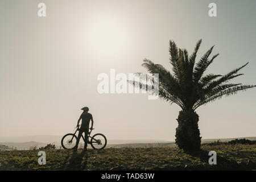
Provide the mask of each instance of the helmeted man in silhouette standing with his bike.
{"label": "helmeted man in silhouette standing with his bike", "polygon": [[81,124],[81,127],[79,129],[79,135],[77,137],[77,141],[76,141],[76,147],[75,147],[75,150],[78,148],[78,145],[79,145],[79,141],[80,141],[80,138],[82,136],[82,133],[85,133],[85,143],[84,143],[84,150],[86,151],[87,149],[87,136],[88,136],[88,133],[89,133],[89,124],[90,124],[90,120],[92,120],[92,127],[90,127],[90,130],[93,129],[93,117],[92,117],[92,114],[88,113],[89,111],[89,108],[88,107],[83,107],[81,110],[84,110],[82,112],[82,114],[80,115],[80,118],[79,120],[77,121],[77,127],[79,127],[79,122],[80,120],[82,119],[82,124]]}

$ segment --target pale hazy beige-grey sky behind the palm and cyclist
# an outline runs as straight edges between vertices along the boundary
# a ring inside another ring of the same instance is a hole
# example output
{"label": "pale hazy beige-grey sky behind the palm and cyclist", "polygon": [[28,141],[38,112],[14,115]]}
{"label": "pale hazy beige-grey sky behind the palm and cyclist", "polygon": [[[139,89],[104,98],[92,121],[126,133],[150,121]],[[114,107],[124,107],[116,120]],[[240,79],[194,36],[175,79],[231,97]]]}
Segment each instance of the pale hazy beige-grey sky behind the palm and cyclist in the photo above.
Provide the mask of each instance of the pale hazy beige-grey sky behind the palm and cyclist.
{"label": "pale hazy beige-grey sky behind the palm and cyclist", "polygon": [[[46,17],[38,3],[46,3]],[[217,17],[208,16],[210,2]],[[256,84],[256,1],[0,1],[0,137],[71,133],[88,106],[94,133],[109,139],[175,139],[180,108],[147,94],[99,94],[100,73],[146,72],[144,58],[171,69],[168,43],[198,59],[220,56],[208,73],[249,61],[234,82]],[[197,59],[197,60],[198,60]],[[203,138],[256,136],[255,89],[197,109]]]}

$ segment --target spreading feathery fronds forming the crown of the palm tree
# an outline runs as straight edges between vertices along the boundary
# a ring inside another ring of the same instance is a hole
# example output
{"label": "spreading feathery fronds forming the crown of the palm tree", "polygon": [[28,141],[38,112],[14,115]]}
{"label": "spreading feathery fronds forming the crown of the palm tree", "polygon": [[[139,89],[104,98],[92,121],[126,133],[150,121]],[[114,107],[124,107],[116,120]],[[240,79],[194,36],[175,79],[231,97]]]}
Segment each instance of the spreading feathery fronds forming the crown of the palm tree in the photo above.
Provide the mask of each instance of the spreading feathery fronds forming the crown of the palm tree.
{"label": "spreading feathery fronds forming the crown of the palm tree", "polygon": [[201,57],[198,63],[195,63],[200,44],[201,40],[197,42],[192,55],[188,56],[186,49],[178,49],[175,42],[170,40],[169,52],[173,73],[167,71],[160,64],[154,64],[148,59],[143,60],[142,66],[147,68],[148,72],[159,73],[160,98],[179,105],[183,110],[195,111],[197,107],[220,99],[222,96],[236,94],[239,90],[256,86],[229,83],[232,78],[243,75],[238,74],[238,71],[248,63],[226,75],[204,75],[218,54],[210,58],[213,46]]}

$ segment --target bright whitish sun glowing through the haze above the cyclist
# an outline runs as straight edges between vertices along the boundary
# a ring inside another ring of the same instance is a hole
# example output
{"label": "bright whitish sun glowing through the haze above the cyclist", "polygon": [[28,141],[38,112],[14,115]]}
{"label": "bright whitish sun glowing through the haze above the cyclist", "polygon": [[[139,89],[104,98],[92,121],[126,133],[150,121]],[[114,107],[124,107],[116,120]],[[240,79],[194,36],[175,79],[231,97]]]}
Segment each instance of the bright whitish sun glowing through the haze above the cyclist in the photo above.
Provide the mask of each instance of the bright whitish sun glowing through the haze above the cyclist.
{"label": "bright whitish sun glowing through the haze above the cyclist", "polygon": [[89,47],[99,56],[118,56],[126,50],[127,30],[113,18],[97,18],[89,24]]}

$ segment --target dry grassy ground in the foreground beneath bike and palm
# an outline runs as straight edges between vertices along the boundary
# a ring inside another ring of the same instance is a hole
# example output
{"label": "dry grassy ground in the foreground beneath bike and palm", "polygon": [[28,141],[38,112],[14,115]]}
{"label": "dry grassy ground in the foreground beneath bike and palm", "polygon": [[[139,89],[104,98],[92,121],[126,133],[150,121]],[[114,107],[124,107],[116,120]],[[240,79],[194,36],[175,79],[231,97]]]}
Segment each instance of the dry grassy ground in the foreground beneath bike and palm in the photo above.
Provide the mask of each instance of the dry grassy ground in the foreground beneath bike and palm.
{"label": "dry grassy ground in the foreground beneath bike and palm", "polygon": [[[177,147],[107,148],[102,151],[47,149],[46,165],[38,164],[39,150],[0,151],[0,170],[204,170],[256,169],[256,144],[203,144],[186,154]],[[217,165],[208,152],[217,152]]]}

